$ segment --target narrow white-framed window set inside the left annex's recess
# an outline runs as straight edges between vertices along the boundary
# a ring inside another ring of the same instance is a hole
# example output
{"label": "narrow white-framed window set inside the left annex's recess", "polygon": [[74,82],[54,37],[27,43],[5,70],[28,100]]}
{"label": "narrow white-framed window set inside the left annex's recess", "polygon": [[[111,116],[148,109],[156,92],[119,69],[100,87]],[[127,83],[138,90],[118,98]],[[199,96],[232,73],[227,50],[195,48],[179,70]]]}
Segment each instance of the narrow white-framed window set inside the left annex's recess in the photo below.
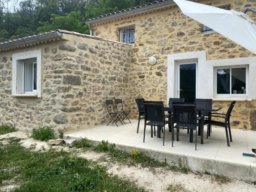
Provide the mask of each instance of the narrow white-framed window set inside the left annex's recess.
{"label": "narrow white-framed window set inside the left annex's recess", "polygon": [[24,62],[24,93],[36,93],[37,64]]}

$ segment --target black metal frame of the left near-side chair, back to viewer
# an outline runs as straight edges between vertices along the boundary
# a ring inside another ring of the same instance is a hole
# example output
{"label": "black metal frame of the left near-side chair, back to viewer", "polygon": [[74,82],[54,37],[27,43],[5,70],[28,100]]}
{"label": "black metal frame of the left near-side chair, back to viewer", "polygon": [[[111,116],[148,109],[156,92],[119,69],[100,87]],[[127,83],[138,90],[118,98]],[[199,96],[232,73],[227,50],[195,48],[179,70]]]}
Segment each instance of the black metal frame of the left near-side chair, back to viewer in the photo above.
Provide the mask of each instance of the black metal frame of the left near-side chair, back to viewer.
{"label": "black metal frame of the left near-side chair, back to viewer", "polygon": [[[161,126],[163,127],[163,133],[165,135],[165,125],[169,123],[169,121],[165,121],[165,118],[171,118],[172,115],[165,115],[164,114],[164,104],[163,101],[158,101],[158,102],[150,102],[147,101],[148,103],[145,103],[146,101],[143,101],[143,109],[144,109],[144,114],[145,114],[145,122],[144,122],[144,136],[143,136],[143,143],[145,143],[145,132],[146,132],[146,125],[151,126],[151,137],[153,137],[153,126]],[[154,119],[151,119],[149,113],[152,113],[152,111],[147,111],[147,106],[154,106],[154,107],[161,107],[162,109],[162,114],[160,117],[161,121],[155,121]],[[163,145],[164,145],[164,136],[163,136]]]}

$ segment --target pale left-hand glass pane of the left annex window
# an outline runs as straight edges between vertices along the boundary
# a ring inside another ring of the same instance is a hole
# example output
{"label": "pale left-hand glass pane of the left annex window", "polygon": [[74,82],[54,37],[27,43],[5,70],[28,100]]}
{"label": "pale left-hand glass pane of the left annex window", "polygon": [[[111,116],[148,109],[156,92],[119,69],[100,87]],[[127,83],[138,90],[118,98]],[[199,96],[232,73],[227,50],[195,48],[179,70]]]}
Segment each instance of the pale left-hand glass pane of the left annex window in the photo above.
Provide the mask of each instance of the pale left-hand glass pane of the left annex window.
{"label": "pale left-hand glass pane of the left annex window", "polygon": [[24,92],[33,92],[33,62],[24,63]]}

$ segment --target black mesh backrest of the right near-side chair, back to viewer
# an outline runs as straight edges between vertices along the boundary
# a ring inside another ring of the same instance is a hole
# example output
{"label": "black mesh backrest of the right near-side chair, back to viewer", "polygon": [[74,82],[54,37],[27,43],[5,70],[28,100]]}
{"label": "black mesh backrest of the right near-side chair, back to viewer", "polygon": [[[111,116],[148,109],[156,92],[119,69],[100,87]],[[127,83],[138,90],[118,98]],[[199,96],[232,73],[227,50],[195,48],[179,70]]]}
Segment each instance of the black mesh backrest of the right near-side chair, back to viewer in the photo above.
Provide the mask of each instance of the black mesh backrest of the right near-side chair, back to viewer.
{"label": "black mesh backrest of the right near-side chair, back to viewer", "polygon": [[174,123],[196,125],[196,103],[172,102]]}

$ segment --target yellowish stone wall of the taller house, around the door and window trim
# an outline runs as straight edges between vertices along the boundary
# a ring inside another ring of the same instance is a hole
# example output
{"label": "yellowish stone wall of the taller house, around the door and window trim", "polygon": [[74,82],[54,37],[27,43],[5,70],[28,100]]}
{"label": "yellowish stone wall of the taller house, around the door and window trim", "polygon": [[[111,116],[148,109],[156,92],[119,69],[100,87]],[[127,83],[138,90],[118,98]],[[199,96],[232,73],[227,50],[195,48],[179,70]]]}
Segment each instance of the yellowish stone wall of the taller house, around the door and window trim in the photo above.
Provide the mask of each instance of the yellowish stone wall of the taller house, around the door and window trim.
{"label": "yellowish stone wall of the taller house, around the door and window trim", "polygon": [[[256,9],[255,0],[203,0],[198,3],[222,6],[230,4],[231,9],[243,11],[246,7]],[[206,51],[207,60],[255,56],[252,52],[218,33],[202,33],[202,24],[181,15],[178,6],[150,11],[141,15],[111,20],[91,25],[93,35],[119,41],[119,28],[135,25],[135,44],[132,48],[130,79],[131,116],[137,118],[135,98],[167,101],[167,55]],[[256,14],[247,12],[256,21]],[[95,15],[96,16],[96,15]],[[154,56],[156,64],[148,59]],[[229,101],[214,102],[223,106],[226,112]],[[231,117],[233,128],[256,130],[256,101],[237,102]],[[251,120],[251,122],[250,122]]]}

